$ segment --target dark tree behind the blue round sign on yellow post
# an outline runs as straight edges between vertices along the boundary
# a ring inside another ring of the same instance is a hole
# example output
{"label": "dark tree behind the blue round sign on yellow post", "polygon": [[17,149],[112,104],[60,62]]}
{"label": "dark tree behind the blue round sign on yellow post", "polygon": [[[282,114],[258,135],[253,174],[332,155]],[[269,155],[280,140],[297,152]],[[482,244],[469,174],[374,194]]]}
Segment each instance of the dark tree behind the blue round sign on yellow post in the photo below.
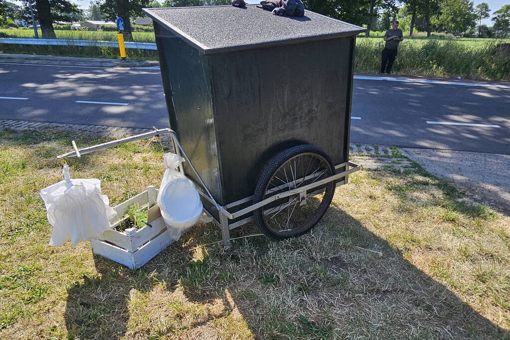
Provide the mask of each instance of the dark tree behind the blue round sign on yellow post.
{"label": "dark tree behind the blue round sign on yellow post", "polygon": [[143,15],[142,8],[147,7],[150,0],[98,0],[101,12],[106,18],[115,21],[117,17],[124,20],[124,40],[132,41],[131,17]]}

